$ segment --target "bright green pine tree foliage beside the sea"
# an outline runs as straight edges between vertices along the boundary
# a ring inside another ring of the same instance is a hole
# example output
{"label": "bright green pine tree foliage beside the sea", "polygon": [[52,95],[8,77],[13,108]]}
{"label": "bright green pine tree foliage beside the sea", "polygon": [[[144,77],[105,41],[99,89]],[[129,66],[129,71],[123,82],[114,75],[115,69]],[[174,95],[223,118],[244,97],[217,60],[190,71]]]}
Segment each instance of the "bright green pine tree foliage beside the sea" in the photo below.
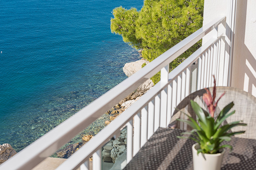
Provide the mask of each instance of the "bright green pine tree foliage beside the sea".
{"label": "bright green pine tree foliage beside the sea", "polygon": [[[154,60],[203,25],[203,0],[144,0],[140,11],[136,8],[113,9],[111,31],[123,41],[142,50],[142,57]],[[192,46],[170,65],[175,68],[201,45]],[[153,80],[156,83],[156,80]]]}

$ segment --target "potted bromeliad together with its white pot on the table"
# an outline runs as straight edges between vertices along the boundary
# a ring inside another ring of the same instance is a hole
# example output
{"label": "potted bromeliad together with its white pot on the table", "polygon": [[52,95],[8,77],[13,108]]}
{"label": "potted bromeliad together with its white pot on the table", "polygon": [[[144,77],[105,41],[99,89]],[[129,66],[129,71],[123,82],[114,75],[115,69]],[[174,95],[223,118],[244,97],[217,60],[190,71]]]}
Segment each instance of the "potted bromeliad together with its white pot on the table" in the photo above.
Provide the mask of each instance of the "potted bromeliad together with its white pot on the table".
{"label": "potted bromeliad together with its white pot on the table", "polygon": [[222,126],[222,122],[224,122],[227,117],[235,113],[235,111],[229,113],[230,109],[234,106],[234,103],[229,103],[222,109],[219,115],[214,116],[217,103],[224,95],[224,93],[215,102],[215,77],[213,95],[211,95],[208,89],[205,88],[205,90],[207,93],[203,94],[203,100],[207,105],[209,112],[203,110],[195,101],[190,100],[191,106],[195,114],[197,115],[197,120],[194,120],[191,116],[188,115],[186,116],[188,116],[189,120],[177,119],[179,121],[187,123],[193,128],[192,131],[183,133],[189,134],[190,136],[178,137],[189,138],[197,142],[192,146],[194,170],[220,170],[223,155],[225,152],[224,148],[228,147],[232,149],[232,146],[221,145],[221,143],[223,141],[230,141],[230,136],[245,133],[245,131],[229,132],[229,130],[235,126],[246,126],[246,124],[240,123],[240,121],[236,121],[227,123]]}

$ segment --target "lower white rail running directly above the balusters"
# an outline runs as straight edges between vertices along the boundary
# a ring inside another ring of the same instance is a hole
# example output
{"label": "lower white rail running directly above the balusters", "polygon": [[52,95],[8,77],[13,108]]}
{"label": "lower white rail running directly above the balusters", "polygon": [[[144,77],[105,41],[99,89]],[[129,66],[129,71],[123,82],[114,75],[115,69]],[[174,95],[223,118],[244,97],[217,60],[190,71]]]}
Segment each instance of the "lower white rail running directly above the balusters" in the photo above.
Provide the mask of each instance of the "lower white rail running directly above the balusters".
{"label": "lower white rail running directly above the balusters", "polygon": [[185,61],[183,61],[179,66],[169,73],[169,81],[165,84],[157,83],[149,91],[147,91],[138,101],[136,101],[131,107],[125,110],[121,115],[119,115],[115,121],[111,122],[103,130],[97,133],[94,138],[82,146],[79,150],[75,152],[69,159],[63,162],[56,170],[70,170],[76,169],[80,166],[76,162],[85,162],[92,153],[96,152],[100,147],[103,147],[109,139],[112,138],[120,129],[125,126],[125,124],[135,116],[139,110],[147,105],[147,103],[154,99],[154,97],[160,93],[167,85],[172,82],[173,79],[176,79],[188,65],[194,63],[200,55],[202,55],[212,44],[221,39],[221,36],[212,38],[207,41],[202,47],[200,47],[195,53],[190,55]]}

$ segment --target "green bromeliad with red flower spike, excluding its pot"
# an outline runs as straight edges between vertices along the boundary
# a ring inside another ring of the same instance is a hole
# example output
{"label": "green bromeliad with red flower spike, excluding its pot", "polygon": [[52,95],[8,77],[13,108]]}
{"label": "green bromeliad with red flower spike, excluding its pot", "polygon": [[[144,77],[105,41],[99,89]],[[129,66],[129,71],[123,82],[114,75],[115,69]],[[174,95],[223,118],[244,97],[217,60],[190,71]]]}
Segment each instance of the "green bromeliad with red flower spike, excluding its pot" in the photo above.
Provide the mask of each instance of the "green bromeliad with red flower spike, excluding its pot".
{"label": "green bromeliad with red flower spike, excluding its pot", "polygon": [[[213,76],[214,77],[214,76]],[[197,115],[197,120],[194,120],[191,116],[188,116],[190,120],[177,119],[179,121],[185,122],[190,125],[193,130],[190,132],[184,132],[182,134],[189,134],[190,136],[178,136],[179,138],[190,138],[195,142],[199,143],[200,149],[198,149],[198,153],[202,152],[208,154],[219,153],[221,148],[228,147],[232,149],[230,145],[222,145],[223,141],[230,141],[230,136],[235,134],[245,133],[245,131],[236,131],[236,132],[228,132],[231,128],[235,126],[246,126],[245,123],[240,123],[240,121],[235,121],[232,123],[225,124],[221,126],[224,120],[233,115],[235,111],[229,113],[230,109],[234,106],[234,103],[231,102],[226,105],[220,114],[214,119],[215,108],[217,106],[220,98],[225,94],[223,93],[221,97],[215,102],[216,97],[216,81],[214,77],[214,87],[213,87],[213,95],[211,95],[210,91],[206,89],[207,93],[203,94],[203,100],[206,103],[209,113],[203,110],[195,101],[190,100],[191,106]]]}

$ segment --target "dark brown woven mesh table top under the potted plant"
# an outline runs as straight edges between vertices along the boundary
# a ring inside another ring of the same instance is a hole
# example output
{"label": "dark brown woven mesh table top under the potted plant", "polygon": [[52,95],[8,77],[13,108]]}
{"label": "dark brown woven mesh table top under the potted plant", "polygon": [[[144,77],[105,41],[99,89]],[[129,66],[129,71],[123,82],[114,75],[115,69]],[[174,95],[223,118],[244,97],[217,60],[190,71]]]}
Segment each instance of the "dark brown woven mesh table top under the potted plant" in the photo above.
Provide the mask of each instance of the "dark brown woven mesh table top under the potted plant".
{"label": "dark brown woven mesh table top under the potted plant", "polygon": [[[124,170],[193,170],[192,145],[190,139],[176,136],[180,129],[159,128],[139,150]],[[224,142],[233,146],[226,149],[221,170],[255,170],[256,140],[233,137]]]}

